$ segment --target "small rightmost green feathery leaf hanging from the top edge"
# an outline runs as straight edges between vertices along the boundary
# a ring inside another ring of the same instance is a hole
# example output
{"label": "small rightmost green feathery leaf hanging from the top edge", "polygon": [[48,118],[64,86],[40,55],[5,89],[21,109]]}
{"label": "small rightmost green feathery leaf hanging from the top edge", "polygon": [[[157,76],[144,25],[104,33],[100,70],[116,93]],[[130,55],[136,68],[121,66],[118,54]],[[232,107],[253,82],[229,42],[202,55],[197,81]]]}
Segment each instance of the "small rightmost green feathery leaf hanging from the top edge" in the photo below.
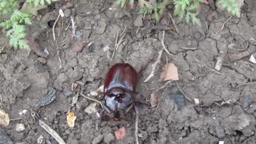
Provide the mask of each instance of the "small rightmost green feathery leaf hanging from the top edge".
{"label": "small rightmost green feathery leaf hanging from the top edge", "polygon": [[237,0],[219,0],[218,3],[233,16],[240,18],[240,5]]}

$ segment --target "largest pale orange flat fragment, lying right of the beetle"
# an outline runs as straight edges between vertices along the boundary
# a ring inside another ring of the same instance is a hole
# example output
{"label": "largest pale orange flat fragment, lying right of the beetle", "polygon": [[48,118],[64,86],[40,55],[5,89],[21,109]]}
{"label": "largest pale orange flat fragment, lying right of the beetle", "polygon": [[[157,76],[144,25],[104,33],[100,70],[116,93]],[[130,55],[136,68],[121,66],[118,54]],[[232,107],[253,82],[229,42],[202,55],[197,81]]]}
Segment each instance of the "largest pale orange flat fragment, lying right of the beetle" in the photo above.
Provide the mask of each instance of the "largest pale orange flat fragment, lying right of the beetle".
{"label": "largest pale orange flat fragment, lying right of the beetle", "polygon": [[179,80],[177,67],[172,63],[165,65],[160,73],[160,80]]}

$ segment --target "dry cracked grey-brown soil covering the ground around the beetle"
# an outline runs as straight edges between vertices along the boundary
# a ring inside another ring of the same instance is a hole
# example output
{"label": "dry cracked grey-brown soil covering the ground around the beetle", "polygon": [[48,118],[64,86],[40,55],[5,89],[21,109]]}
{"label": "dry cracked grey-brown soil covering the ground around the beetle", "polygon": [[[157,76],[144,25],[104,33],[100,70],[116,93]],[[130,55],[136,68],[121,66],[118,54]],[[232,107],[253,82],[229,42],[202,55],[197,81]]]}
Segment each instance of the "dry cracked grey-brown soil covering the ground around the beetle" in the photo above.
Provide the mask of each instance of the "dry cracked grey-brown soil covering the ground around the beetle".
{"label": "dry cracked grey-brown soil covering the ground around the beetle", "polygon": [[[40,11],[34,19],[35,25],[27,27],[28,33],[40,29],[46,14],[44,21],[56,20],[55,12],[62,4],[52,4]],[[164,51],[155,76],[144,83],[162,48],[163,30],[152,28],[154,16],[145,16],[142,22],[137,18],[138,8],[136,11],[120,9],[113,0],[74,0],[75,39],[71,39],[68,11],[67,17],[60,17],[56,23],[56,41],[47,22],[47,28],[38,38],[37,42],[48,49],[48,59],[11,48],[0,53],[3,66],[0,67],[0,106],[12,119],[7,127],[0,129],[0,143],[58,144],[39,125],[40,119],[67,144],[134,144],[135,120],[101,122],[97,114],[101,111],[100,104],[77,93],[87,95],[99,88],[107,70],[115,63],[129,63],[139,71],[152,60],[136,88],[141,94],[139,99],[148,104],[152,90],[147,88],[157,90],[166,83],[160,81],[159,75],[167,59],[177,67],[179,80],[156,92],[157,109],[142,110],[138,128],[140,144],[218,144],[219,141],[255,144],[256,86],[246,83],[256,81],[256,65],[250,63],[249,56],[235,61],[225,58],[221,70],[214,70],[220,55],[255,53],[255,6],[254,0],[245,0],[241,17],[227,21],[229,15],[214,4],[202,5],[199,15],[202,27],[174,17],[179,34],[166,30],[164,37],[172,56]],[[223,24],[224,28],[219,31]],[[164,13],[158,24],[159,27],[165,25],[174,28],[168,13]],[[116,37],[124,29],[124,41],[111,61]],[[75,43],[82,39],[90,44],[81,52],[75,52]],[[7,45],[7,41],[5,34],[1,34],[0,44]],[[74,82],[78,85],[72,91]],[[51,93],[53,89],[55,93]],[[200,104],[187,101],[181,90],[189,99],[199,99]],[[102,96],[96,95],[93,99],[102,101]],[[44,106],[38,107],[42,101]],[[223,104],[224,101],[228,104]],[[68,112],[74,112],[77,117],[74,128],[67,125]],[[16,126],[20,123],[25,129],[18,132]],[[117,141],[114,131],[122,126],[126,135],[123,141]],[[38,141],[41,135],[43,140]]]}

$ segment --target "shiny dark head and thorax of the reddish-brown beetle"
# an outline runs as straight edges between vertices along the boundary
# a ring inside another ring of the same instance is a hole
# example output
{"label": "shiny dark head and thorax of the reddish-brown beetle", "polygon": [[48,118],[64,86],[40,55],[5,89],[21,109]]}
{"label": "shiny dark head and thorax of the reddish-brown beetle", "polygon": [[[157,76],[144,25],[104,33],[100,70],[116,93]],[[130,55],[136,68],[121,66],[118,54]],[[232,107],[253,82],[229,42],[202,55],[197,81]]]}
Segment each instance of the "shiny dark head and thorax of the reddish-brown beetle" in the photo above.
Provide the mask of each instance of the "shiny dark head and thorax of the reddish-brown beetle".
{"label": "shiny dark head and thorax of the reddish-brown beetle", "polygon": [[114,88],[104,96],[104,111],[114,120],[120,120],[133,107],[130,91]]}

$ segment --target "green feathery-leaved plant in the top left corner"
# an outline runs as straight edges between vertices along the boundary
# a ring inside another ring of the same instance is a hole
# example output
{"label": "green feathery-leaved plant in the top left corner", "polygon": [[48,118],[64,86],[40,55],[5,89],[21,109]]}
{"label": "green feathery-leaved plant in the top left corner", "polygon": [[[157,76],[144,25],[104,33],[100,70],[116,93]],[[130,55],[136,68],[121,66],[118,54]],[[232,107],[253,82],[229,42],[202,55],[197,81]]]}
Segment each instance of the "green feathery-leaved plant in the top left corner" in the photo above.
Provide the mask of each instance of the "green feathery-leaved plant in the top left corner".
{"label": "green feathery-leaved plant in the top left corner", "polygon": [[[53,0],[46,0],[51,3]],[[29,45],[24,42],[26,37],[25,24],[32,24],[29,14],[41,8],[45,8],[45,0],[27,0],[27,8],[20,10],[20,3],[17,0],[0,1],[0,27],[7,31],[10,37],[9,44],[14,48],[29,49]]]}

